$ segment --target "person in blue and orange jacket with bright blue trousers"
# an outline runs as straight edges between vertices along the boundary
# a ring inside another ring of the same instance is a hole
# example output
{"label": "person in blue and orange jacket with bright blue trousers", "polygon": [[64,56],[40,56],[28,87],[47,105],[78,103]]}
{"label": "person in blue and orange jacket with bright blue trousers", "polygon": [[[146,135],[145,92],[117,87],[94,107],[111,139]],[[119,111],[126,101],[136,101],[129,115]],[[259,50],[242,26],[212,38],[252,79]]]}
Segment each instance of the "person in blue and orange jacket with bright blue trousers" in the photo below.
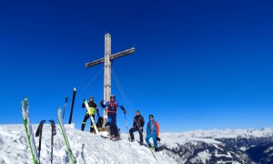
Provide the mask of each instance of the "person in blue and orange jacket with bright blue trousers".
{"label": "person in blue and orange jacket with bright blue trousers", "polygon": [[149,139],[153,138],[155,151],[158,151],[158,148],[157,148],[158,136],[159,136],[159,125],[157,121],[154,120],[154,116],[149,115],[149,121],[147,123],[147,137],[146,137],[146,142],[148,144],[149,149],[152,149]]}

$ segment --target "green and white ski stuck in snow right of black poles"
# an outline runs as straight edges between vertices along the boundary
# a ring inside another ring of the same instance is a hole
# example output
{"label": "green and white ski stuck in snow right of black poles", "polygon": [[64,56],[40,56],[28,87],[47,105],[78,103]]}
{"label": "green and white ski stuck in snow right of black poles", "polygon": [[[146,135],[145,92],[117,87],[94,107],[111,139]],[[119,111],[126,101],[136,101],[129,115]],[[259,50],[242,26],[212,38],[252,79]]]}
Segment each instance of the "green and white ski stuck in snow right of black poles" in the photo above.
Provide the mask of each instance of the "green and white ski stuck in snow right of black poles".
{"label": "green and white ski stuck in snow right of black poles", "polygon": [[62,109],[61,108],[58,108],[58,120],[59,120],[60,128],[62,130],[62,135],[63,135],[63,137],[65,139],[66,150],[67,150],[70,162],[72,164],[75,164],[76,163],[76,159],[74,159],[74,157],[73,157],[72,150],[70,148],[70,145],[69,145],[69,142],[68,142],[68,138],[66,136],[66,129],[65,129],[64,124],[63,124],[63,117],[62,117]]}

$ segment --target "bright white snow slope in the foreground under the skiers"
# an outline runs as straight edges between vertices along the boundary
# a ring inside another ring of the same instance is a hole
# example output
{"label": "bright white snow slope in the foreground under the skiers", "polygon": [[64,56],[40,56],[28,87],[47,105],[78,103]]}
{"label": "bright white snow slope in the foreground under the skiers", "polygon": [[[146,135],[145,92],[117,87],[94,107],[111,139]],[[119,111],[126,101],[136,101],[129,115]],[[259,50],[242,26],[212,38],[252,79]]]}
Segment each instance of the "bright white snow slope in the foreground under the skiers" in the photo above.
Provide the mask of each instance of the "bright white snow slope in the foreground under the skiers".
{"label": "bright white snow slope in the foreground under the skiers", "polygon": [[[38,125],[33,125],[33,130],[37,127]],[[73,124],[65,125],[65,128],[77,163],[177,163],[163,151],[155,152],[157,162],[147,147],[140,146],[137,142],[129,144],[127,134],[121,134],[121,140],[111,141],[108,138],[75,129]],[[58,124],[56,130],[53,163],[69,163],[65,141]],[[1,125],[0,131],[0,163],[33,163],[23,124]],[[51,126],[49,123],[44,125],[42,137],[40,160],[41,163],[50,163]],[[35,143],[37,146],[38,138],[35,138]]]}

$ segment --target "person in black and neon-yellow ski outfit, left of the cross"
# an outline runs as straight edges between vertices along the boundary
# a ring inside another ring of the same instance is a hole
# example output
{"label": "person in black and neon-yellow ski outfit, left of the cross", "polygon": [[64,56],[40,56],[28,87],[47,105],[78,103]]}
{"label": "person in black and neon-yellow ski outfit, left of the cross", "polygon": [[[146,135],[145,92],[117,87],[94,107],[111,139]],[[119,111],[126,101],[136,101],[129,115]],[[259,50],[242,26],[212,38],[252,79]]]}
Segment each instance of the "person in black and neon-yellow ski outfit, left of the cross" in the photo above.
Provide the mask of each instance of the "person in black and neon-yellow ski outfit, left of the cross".
{"label": "person in black and neon-yellow ski outfit, left of the cross", "polygon": [[[85,101],[85,99],[84,99],[84,101]],[[94,97],[89,97],[88,106],[89,106],[89,108],[90,108],[91,115],[92,115],[92,117],[94,118],[94,120],[95,120],[95,109],[96,109],[97,117],[99,118],[99,110],[98,110],[98,108],[97,108],[97,106],[96,106],[96,102],[94,101]],[[86,108],[85,102],[83,102],[82,108]],[[82,128],[81,128],[82,131],[85,130],[85,127],[86,127],[86,120],[87,120],[88,118],[90,118],[90,115],[89,115],[89,113],[88,113],[88,111],[87,111],[87,109],[86,109],[86,116],[85,116],[85,118],[84,118],[84,120],[83,120],[83,122],[82,122]],[[93,123],[92,123],[91,120],[90,120],[90,122],[91,122],[90,132],[93,133],[93,132],[94,132],[94,125],[93,125]]]}

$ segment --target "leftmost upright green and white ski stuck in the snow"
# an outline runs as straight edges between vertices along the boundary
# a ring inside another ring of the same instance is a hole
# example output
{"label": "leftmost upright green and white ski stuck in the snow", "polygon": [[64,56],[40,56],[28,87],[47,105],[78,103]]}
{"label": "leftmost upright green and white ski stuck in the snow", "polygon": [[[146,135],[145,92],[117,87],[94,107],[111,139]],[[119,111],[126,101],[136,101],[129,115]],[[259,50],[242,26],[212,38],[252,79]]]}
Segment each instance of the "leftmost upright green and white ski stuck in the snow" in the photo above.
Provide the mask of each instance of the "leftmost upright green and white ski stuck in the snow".
{"label": "leftmost upright green and white ski stuck in the snow", "polygon": [[27,97],[25,97],[25,99],[21,102],[21,108],[22,108],[22,116],[23,116],[23,120],[24,120],[26,138],[27,138],[29,148],[30,148],[30,151],[32,154],[32,159],[35,164],[39,164],[40,160],[38,159],[38,156],[37,156],[37,149],[35,146],[35,138],[34,138],[32,128],[31,128],[31,122],[29,119],[29,103],[28,103]]}

